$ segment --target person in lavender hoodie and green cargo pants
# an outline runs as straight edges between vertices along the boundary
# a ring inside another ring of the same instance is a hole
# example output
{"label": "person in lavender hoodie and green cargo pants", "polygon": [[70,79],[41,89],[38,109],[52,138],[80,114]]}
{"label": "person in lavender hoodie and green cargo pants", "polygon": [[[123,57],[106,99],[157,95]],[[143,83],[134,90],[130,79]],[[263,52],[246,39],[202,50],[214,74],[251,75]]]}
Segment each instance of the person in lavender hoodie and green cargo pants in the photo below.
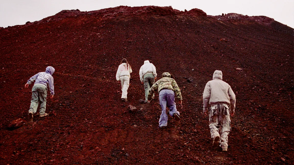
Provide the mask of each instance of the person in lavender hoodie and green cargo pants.
{"label": "person in lavender hoodie and green cargo pants", "polygon": [[55,69],[52,66],[48,66],[45,72],[39,72],[33,77],[31,77],[26,85],[25,88],[29,87],[31,83],[35,81],[34,86],[32,88],[32,99],[31,99],[31,107],[29,109],[29,118],[33,119],[33,115],[37,112],[37,108],[40,105],[40,117],[47,116],[48,114],[45,113],[46,110],[46,97],[47,97],[47,84],[50,87],[50,98],[54,96],[54,79],[52,77]]}

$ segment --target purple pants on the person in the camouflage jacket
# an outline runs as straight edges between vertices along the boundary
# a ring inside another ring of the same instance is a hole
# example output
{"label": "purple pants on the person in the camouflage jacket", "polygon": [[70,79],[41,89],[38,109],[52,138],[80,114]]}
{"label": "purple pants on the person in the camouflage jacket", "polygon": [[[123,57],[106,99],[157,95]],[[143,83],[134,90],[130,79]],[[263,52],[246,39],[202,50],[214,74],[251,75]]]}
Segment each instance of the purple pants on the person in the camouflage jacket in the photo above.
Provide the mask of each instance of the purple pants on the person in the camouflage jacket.
{"label": "purple pants on the person in the camouflage jacket", "polygon": [[166,106],[169,108],[171,117],[174,113],[180,115],[177,111],[175,103],[175,92],[169,89],[163,89],[159,92],[159,104],[161,105],[161,115],[159,119],[159,127],[167,126],[168,116],[166,115]]}

